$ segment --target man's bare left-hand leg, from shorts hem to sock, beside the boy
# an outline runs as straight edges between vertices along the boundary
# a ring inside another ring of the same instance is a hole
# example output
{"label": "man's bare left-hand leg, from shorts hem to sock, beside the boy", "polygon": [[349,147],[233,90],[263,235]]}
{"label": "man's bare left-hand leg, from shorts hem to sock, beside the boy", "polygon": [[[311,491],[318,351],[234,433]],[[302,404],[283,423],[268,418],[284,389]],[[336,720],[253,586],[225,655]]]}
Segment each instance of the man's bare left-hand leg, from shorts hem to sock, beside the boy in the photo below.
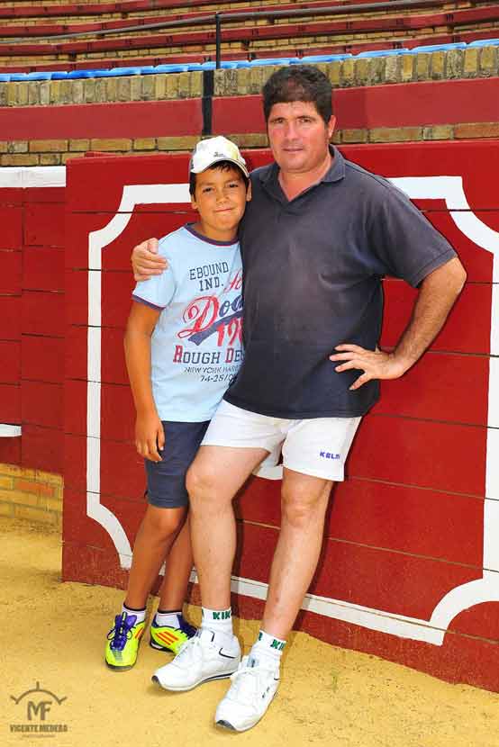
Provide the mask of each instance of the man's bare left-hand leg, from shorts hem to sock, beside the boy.
{"label": "man's bare left-hand leg, from shorts hem to sock, beside the boy", "polygon": [[267,454],[259,448],[201,446],[187,473],[193,554],[204,608],[231,605],[236,551],[232,499]]}

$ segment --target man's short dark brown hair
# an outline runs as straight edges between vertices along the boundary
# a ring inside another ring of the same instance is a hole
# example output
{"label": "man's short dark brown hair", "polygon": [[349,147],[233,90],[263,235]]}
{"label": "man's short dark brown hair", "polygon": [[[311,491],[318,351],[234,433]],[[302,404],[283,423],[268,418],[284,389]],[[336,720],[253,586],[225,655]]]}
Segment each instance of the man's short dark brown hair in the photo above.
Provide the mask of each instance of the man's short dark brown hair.
{"label": "man's short dark brown hair", "polygon": [[280,67],[263,86],[263,113],[268,121],[275,103],[305,101],[314,103],[327,124],[331,119],[332,86],[329,79],[312,65]]}

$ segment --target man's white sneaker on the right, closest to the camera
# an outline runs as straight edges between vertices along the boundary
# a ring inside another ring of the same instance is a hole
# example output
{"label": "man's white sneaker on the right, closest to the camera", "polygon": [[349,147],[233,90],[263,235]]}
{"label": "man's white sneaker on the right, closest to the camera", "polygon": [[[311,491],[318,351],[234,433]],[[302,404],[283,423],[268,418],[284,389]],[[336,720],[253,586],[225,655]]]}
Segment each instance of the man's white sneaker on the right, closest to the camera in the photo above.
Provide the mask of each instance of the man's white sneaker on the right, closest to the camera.
{"label": "man's white sneaker on the right, closest to the camera", "polygon": [[266,660],[256,662],[245,656],[238,671],[231,676],[232,684],[218,704],[215,724],[236,732],[245,732],[259,723],[279,686],[279,664]]}

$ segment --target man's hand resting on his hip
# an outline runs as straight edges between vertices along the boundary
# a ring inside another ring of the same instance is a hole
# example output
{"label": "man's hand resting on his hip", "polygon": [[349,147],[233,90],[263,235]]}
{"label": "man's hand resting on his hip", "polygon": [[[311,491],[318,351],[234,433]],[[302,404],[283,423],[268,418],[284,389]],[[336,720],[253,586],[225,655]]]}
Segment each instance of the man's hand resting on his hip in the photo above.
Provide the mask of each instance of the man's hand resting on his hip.
{"label": "man's hand resting on his hip", "polygon": [[343,361],[335,367],[339,374],[342,371],[350,371],[352,368],[358,368],[364,373],[349,387],[350,390],[356,390],[362,384],[370,382],[372,379],[398,379],[409,368],[409,365],[397,360],[394,353],[385,353],[383,350],[366,350],[359,345],[337,345],[335,350],[340,352],[330,356],[330,361]]}

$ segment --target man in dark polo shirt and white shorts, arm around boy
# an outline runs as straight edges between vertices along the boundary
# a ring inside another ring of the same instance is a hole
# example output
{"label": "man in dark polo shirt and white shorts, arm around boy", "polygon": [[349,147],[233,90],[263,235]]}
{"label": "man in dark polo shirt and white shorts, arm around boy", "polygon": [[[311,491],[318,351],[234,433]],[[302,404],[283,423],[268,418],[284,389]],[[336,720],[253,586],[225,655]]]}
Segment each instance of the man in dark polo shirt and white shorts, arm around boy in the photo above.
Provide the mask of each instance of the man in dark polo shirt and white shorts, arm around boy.
{"label": "man in dark polo shirt and white shorts, arm around boy", "polygon": [[[183,690],[236,670],[231,501],[282,445],[282,522],[259,640],[215,715],[236,731],[258,723],[277,691],[331,486],[343,479],[360,417],[377,401],[377,380],[402,376],[422,356],[466,279],[446,239],[403,193],[330,148],[331,85],[318,69],[279,69],[263,105],[275,163],[251,175],[240,226],[245,356],[187,475],[203,624],[155,675],[162,687]],[[148,246],[134,249],[136,274],[162,269]],[[419,288],[390,353],[377,348],[383,275]]]}

